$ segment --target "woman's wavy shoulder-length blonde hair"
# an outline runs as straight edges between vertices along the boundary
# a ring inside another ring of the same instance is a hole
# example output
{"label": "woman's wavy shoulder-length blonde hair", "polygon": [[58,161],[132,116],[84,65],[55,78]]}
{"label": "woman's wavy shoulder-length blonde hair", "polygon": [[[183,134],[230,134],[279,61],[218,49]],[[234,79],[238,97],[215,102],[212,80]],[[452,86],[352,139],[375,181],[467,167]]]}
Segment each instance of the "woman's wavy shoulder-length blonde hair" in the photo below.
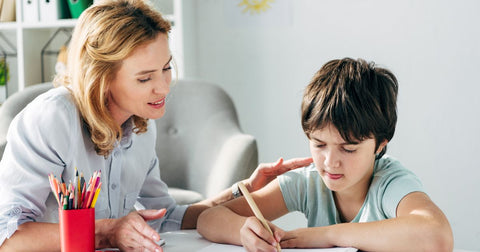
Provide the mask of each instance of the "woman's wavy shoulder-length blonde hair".
{"label": "woman's wavy shoulder-length blonde hair", "polygon": [[[143,0],[106,0],[79,17],[69,45],[67,71],[55,78],[66,86],[88,126],[98,155],[108,156],[122,138],[108,110],[111,81],[130,53],[171,25]],[[146,132],[147,119],[133,116],[134,132]]]}

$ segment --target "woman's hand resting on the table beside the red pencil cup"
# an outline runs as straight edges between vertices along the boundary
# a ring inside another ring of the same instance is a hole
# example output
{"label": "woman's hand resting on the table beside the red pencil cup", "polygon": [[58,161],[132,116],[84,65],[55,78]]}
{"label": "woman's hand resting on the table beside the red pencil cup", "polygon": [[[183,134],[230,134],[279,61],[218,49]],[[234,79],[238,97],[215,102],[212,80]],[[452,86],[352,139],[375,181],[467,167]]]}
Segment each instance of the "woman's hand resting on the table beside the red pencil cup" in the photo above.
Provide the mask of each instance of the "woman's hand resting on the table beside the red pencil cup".
{"label": "woman's hand resting on the table beside the red pencil cup", "polygon": [[121,251],[163,251],[156,241],[160,235],[151,228],[147,221],[162,218],[166,209],[140,210],[129,213],[110,223],[106,234],[111,247]]}

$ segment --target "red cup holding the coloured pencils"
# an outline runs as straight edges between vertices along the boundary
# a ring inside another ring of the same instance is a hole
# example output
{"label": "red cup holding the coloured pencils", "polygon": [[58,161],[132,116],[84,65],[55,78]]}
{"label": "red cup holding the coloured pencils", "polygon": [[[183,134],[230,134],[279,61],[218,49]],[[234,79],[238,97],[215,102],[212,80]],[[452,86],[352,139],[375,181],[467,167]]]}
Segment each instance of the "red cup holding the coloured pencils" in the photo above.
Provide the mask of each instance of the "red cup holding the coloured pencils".
{"label": "red cup holding the coloured pencils", "polygon": [[95,208],[58,209],[62,252],[95,251]]}

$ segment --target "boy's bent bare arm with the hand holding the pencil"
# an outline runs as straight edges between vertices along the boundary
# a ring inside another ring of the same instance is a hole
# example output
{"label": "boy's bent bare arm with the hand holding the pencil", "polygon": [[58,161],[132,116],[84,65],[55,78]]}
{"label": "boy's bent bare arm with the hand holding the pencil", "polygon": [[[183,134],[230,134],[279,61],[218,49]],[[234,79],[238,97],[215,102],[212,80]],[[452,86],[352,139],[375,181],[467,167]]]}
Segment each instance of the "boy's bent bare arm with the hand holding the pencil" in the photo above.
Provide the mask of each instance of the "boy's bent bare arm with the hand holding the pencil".
{"label": "boy's bent bare arm with the hand holding the pencil", "polygon": [[[251,195],[267,220],[276,219],[288,213],[276,179],[264,188],[251,193]],[[242,245],[240,232],[244,227],[244,230],[242,230],[243,239],[252,238],[249,241],[250,243],[272,244],[275,242],[262,224],[251,216],[254,216],[254,214],[250,206],[244,197],[240,197],[205,210],[198,218],[197,231],[213,242]],[[245,225],[248,227],[245,227]],[[274,233],[276,230],[277,232],[283,232],[273,225],[271,227]],[[257,235],[265,237],[265,239],[258,239]]]}

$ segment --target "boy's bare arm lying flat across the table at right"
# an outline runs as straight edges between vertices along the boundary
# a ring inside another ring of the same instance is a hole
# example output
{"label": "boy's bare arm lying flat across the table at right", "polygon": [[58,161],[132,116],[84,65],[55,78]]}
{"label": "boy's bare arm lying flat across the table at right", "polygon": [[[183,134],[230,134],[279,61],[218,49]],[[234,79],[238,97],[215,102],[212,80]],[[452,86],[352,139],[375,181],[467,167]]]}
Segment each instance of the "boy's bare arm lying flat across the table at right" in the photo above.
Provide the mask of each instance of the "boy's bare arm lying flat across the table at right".
{"label": "boy's bare arm lying flat across the table at right", "polygon": [[405,196],[397,217],[287,232],[282,247],[355,247],[365,251],[452,251],[453,235],[442,211],[422,192]]}

